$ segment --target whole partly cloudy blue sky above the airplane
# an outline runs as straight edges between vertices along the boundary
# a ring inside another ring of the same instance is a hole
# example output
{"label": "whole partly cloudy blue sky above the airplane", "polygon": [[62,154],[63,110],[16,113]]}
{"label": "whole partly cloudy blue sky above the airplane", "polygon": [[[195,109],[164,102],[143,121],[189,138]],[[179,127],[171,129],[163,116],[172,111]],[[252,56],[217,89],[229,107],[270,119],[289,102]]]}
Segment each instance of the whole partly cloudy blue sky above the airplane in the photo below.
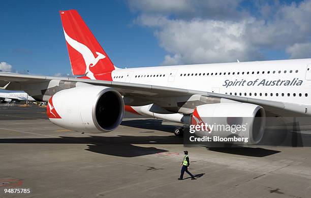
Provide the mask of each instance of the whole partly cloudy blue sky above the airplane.
{"label": "whole partly cloudy blue sky above the airplane", "polygon": [[311,1],[2,1],[0,70],[71,75],[59,11],[120,68],[311,58]]}

